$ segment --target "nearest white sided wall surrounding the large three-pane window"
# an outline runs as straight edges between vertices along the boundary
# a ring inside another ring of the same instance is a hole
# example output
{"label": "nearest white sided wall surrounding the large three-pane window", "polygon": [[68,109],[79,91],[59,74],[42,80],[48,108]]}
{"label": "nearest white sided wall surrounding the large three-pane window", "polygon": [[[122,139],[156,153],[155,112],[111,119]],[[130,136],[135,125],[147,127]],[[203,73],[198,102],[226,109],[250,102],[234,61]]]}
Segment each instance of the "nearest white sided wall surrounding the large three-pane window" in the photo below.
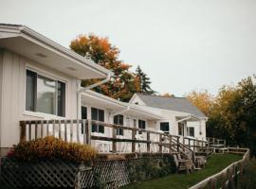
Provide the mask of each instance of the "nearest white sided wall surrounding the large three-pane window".
{"label": "nearest white sided wall surrounding the large three-pane window", "polygon": [[[61,63],[61,62],[60,62]],[[76,79],[52,70],[33,60],[4,51],[2,106],[1,108],[1,147],[10,147],[19,142],[19,121],[27,119],[57,118],[46,113],[26,112],[26,68],[43,72],[46,76],[56,77],[66,83],[65,117],[76,118],[77,95]],[[59,117],[60,118],[60,117]]]}

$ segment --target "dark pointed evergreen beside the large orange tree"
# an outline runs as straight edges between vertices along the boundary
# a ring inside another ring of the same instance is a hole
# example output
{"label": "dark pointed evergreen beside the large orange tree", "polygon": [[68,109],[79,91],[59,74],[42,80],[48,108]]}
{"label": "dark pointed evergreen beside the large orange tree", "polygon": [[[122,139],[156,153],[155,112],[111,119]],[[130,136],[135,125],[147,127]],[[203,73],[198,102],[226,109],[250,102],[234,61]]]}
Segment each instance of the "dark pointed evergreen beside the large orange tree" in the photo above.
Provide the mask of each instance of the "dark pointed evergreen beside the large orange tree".
{"label": "dark pointed evergreen beside the large orange tree", "polygon": [[139,66],[136,69],[136,76],[139,81],[139,93],[141,94],[155,94],[155,91],[151,88],[151,80]]}

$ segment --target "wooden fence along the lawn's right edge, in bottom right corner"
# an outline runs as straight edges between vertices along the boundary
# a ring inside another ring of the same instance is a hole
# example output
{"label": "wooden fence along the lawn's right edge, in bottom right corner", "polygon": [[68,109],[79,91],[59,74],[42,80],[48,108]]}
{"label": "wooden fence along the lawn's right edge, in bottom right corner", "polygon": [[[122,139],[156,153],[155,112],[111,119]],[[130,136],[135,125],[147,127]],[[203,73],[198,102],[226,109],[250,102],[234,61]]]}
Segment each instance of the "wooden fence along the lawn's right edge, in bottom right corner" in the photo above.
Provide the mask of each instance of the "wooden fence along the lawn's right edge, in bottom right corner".
{"label": "wooden fence along the lawn's right edge, in bottom right corner", "polygon": [[249,161],[249,149],[229,147],[229,153],[244,153],[244,156],[242,160],[230,164],[221,172],[210,176],[206,180],[200,181],[199,183],[190,187],[190,189],[241,188],[243,169],[245,164]]}

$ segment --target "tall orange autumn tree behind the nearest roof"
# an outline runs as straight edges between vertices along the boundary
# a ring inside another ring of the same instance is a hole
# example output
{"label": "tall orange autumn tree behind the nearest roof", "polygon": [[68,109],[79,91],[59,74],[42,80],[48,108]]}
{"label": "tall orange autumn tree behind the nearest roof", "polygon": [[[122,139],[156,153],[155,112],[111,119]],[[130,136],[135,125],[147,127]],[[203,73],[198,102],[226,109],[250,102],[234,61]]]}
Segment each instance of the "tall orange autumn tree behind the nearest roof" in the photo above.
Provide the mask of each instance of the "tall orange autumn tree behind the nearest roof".
{"label": "tall orange autumn tree behind the nearest roof", "polygon": [[[131,65],[119,60],[119,48],[109,43],[107,38],[93,34],[80,35],[70,43],[70,48],[114,73],[109,82],[95,88],[95,91],[121,101],[129,101],[133,94],[139,92],[139,80],[129,71]],[[83,80],[82,86],[97,81],[98,79]]]}

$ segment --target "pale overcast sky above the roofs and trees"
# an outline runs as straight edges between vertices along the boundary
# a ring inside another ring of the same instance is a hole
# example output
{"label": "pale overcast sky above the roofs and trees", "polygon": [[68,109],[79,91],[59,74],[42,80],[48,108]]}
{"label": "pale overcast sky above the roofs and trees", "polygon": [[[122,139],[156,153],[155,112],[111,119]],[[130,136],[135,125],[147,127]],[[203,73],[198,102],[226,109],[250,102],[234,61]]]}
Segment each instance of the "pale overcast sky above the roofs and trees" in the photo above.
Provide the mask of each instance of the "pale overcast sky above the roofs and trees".
{"label": "pale overcast sky above the roofs and trees", "polygon": [[108,37],[161,94],[216,94],[256,73],[256,0],[0,0],[0,23],[65,47],[79,34]]}

